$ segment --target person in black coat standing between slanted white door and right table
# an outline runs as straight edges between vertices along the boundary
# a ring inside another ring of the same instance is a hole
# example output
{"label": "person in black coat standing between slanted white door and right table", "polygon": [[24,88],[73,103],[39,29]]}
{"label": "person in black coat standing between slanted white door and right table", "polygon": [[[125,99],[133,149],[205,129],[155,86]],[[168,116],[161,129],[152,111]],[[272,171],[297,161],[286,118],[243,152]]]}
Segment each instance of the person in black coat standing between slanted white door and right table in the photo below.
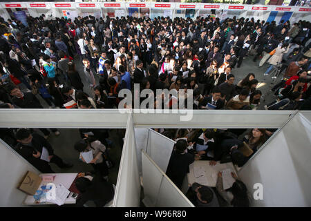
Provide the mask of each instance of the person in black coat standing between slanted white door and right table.
{"label": "person in black coat standing between slanted white door and right table", "polygon": [[194,155],[185,153],[187,146],[187,141],[178,140],[167,166],[167,176],[179,189],[181,189],[185,175],[189,173],[189,165],[194,162]]}

